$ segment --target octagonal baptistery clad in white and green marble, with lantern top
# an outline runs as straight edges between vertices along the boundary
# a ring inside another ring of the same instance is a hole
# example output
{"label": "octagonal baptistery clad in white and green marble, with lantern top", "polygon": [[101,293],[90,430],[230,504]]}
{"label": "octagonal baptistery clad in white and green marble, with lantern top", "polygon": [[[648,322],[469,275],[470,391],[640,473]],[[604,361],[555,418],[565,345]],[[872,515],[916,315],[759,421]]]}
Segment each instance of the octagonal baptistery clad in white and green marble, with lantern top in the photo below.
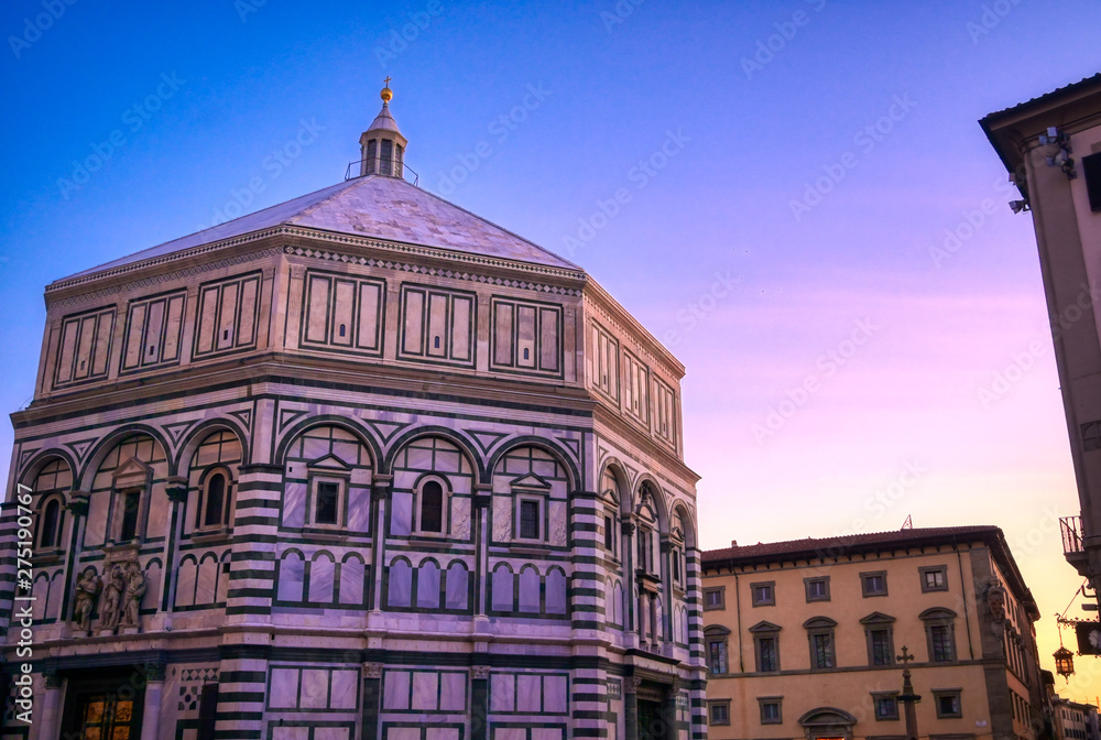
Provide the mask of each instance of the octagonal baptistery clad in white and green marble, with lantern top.
{"label": "octagonal baptistery clad in white and green marble, with lantern top", "polygon": [[358,175],[46,287],[6,736],[706,737],[683,366],[383,92]]}

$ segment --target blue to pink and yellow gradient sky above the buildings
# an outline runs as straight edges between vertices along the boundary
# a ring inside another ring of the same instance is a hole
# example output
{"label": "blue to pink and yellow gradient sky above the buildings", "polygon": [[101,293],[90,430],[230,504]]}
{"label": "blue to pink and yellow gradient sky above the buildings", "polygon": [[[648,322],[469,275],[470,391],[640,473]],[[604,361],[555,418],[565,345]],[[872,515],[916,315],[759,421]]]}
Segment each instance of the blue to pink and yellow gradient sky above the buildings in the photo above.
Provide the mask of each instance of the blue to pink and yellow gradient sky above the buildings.
{"label": "blue to pink and yellow gradient sky above the buildings", "polygon": [[0,8],[0,407],[46,283],[339,182],[391,75],[423,187],[687,367],[704,547],[996,524],[1053,667],[1077,494],[1032,221],[975,121],[1101,69],[1095,1],[68,2]]}

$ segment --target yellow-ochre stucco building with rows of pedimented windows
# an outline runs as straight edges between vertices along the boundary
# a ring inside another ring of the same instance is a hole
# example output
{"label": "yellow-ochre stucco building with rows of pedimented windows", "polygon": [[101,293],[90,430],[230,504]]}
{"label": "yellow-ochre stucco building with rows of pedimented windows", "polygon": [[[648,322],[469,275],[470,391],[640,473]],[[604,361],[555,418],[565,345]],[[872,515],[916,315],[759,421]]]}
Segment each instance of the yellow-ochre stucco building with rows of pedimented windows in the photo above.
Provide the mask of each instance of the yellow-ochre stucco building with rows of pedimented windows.
{"label": "yellow-ochre stucco building with rows of pedimented windows", "polygon": [[903,740],[903,664],[930,740],[1049,733],[1033,622],[995,526],[702,554],[708,737]]}

